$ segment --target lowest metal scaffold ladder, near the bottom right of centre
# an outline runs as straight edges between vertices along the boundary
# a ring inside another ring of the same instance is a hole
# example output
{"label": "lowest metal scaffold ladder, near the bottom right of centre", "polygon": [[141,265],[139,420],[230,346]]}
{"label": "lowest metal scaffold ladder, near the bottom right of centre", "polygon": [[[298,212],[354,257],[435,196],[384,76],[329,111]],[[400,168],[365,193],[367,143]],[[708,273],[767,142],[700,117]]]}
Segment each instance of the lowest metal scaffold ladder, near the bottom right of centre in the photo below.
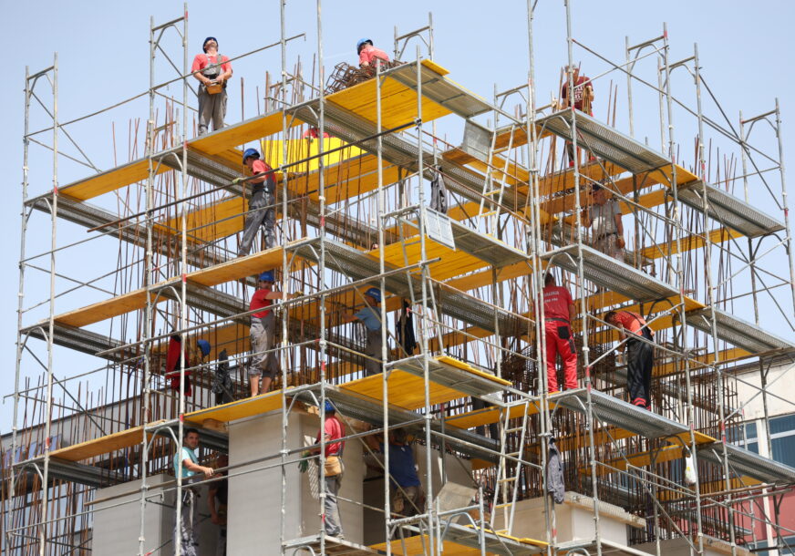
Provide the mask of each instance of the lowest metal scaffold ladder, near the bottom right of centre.
{"label": "lowest metal scaffold ladder, near the bottom right of centre", "polygon": [[[521,479],[522,458],[524,444],[527,437],[527,421],[530,417],[530,400],[521,401],[524,410],[521,412],[521,426],[511,427],[511,411],[505,407],[500,416],[500,463],[497,467],[497,480],[494,484],[494,505],[491,511],[490,527],[494,527],[494,518],[498,510],[502,510],[502,529],[498,533],[511,534],[513,530],[513,515],[516,510],[516,498],[519,493]],[[513,451],[507,451],[509,435],[519,432],[519,446]],[[513,473],[509,475],[509,458],[513,462]],[[515,459],[514,459],[515,458]],[[512,484],[513,489],[510,485]],[[500,499],[502,501],[500,501]]]}

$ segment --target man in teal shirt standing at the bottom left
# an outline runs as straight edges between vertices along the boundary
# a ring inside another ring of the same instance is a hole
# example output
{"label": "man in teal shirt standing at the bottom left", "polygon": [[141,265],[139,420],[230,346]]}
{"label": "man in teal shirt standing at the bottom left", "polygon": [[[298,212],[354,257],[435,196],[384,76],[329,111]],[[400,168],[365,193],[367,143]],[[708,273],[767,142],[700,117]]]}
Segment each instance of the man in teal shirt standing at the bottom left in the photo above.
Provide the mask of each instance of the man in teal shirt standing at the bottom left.
{"label": "man in teal shirt standing at the bottom left", "polygon": [[174,542],[179,542],[182,556],[196,556],[199,553],[199,489],[187,486],[191,478],[203,474],[204,478],[212,477],[212,468],[199,465],[196,448],[199,447],[199,431],[186,428],[182,437],[182,446],[174,456],[174,473],[179,473],[182,463],[182,511],[181,519],[174,524]]}

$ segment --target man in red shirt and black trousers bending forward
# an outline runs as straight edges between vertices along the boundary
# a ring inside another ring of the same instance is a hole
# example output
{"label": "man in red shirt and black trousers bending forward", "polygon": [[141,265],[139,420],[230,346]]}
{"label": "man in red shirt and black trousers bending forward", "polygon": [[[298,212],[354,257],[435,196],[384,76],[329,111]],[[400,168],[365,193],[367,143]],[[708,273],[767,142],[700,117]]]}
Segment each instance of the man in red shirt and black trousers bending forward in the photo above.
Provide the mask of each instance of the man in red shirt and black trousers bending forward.
{"label": "man in red shirt and black trousers bending forward", "polygon": [[624,351],[626,348],[626,387],[630,403],[649,409],[655,361],[655,346],[652,344],[655,341],[654,331],[640,314],[632,311],[608,311],[604,314],[604,322],[618,328],[622,341],[626,339],[618,349]]}

